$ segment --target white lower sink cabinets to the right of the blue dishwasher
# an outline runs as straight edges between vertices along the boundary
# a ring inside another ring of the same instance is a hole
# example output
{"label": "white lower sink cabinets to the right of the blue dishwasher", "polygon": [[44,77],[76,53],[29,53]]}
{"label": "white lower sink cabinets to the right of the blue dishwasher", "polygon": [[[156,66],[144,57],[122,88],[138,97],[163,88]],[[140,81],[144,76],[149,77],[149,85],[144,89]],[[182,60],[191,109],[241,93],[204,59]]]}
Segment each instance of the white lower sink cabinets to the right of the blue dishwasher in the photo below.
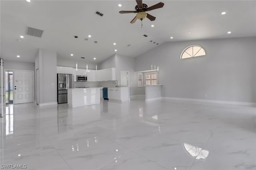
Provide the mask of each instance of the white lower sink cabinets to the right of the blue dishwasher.
{"label": "white lower sink cabinets to the right of the blue dishwasher", "polygon": [[108,88],[108,100],[125,102],[129,100],[128,87]]}

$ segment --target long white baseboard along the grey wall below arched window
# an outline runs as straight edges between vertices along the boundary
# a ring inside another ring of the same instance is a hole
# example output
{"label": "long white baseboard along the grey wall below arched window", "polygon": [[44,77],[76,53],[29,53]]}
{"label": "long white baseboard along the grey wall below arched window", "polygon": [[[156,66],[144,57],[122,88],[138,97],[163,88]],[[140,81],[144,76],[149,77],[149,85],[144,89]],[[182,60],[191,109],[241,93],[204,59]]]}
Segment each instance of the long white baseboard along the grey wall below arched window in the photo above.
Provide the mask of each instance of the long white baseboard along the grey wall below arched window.
{"label": "long white baseboard along the grey wall below arched window", "polygon": [[233,101],[223,101],[223,100],[204,100],[204,99],[190,99],[190,98],[170,98],[162,97],[162,100],[180,100],[188,102],[207,102],[207,103],[216,103],[216,104],[233,104],[233,105],[244,105],[244,106],[256,106],[256,103],[250,102],[233,102]]}

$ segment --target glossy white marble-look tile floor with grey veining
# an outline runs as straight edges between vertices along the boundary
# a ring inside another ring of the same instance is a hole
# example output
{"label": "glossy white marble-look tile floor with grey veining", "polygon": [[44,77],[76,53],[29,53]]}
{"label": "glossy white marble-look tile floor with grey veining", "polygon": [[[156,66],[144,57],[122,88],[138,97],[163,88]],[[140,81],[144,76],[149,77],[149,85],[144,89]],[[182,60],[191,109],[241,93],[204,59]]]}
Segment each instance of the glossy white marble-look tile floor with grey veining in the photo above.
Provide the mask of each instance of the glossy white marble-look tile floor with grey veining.
{"label": "glossy white marble-look tile floor with grey veining", "polygon": [[137,99],[5,109],[2,169],[256,170],[256,107]]}

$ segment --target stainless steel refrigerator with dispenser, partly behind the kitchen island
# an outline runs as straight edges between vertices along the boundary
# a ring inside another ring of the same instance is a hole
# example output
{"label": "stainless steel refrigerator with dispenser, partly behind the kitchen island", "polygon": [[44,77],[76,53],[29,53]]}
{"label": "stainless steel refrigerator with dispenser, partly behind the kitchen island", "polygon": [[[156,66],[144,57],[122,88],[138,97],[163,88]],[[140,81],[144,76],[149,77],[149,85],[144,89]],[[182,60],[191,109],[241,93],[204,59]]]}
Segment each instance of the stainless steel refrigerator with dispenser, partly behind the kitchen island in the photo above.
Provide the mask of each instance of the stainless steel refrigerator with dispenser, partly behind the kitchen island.
{"label": "stainless steel refrigerator with dispenser, partly behind the kitchen island", "polygon": [[68,88],[74,88],[73,74],[57,74],[57,101],[68,103]]}

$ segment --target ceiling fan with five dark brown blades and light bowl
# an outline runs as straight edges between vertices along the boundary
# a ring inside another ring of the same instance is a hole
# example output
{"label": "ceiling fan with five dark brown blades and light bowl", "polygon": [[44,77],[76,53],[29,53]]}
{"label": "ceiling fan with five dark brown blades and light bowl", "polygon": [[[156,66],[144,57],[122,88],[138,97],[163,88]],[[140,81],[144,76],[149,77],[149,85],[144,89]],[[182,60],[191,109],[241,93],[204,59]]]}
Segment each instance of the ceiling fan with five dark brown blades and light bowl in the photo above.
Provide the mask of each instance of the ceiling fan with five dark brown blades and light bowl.
{"label": "ceiling fan with five dark brown blades and light bowl", "polygon": [[[142,4],[142,0],[136,0],[137,5],[135,6],[135,11],[119,11],[120,14],[128,14],[128,13],[137,13],[135,18],[130,23],[135,23],[137,19],[142,20],[148,18],[150,21],[156,20],[156,17],[146,13],[147,11],[155,10],[158,8],[162,8],[164,3],[159,2],[153,6],[148,7],[146,4]],[[142,25],[142,24],[141,24]]]}

